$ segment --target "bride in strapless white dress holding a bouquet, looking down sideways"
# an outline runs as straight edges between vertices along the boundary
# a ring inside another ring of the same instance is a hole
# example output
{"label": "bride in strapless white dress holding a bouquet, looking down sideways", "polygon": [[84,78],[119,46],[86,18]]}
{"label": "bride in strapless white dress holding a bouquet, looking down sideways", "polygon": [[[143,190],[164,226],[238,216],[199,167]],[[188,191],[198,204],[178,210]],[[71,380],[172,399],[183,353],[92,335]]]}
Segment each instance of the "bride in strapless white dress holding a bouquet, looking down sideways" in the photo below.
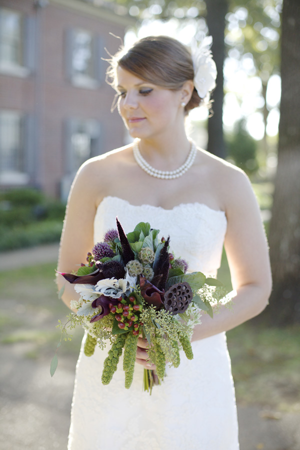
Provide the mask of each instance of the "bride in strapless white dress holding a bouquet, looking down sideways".
{"label": "bride in strapless white dress holding a bouquet, looking down sideways", "polygon": [[[111,60],[118,111],[133,144],[86,161],[73,182],[58,270],[76,269],[118,216],[125,232],[148,221],[170,235],[190,271],[216,274],[224,243],[235,296],[194,328],[194,359],[166,367],[152,395],[142,391],[146,342],[139,337],[134,379],[117,370],[101,384],[107,350],[82,348],[76,367],[68,450],[237,450],[237,420],[225,331],[260,313],[271,275],[267,243],[249,180],[235,166],[195,148],[188,111],[209,97],[215,65],[209,39],[192,54],[166,36],[150,36]],[[156,170],[155,170],[156,169]],[[63,283],[58,279],[58,287]],[[65,285],[63,301],[75,298]],[[84,339],[83,339],[84,340]]]}

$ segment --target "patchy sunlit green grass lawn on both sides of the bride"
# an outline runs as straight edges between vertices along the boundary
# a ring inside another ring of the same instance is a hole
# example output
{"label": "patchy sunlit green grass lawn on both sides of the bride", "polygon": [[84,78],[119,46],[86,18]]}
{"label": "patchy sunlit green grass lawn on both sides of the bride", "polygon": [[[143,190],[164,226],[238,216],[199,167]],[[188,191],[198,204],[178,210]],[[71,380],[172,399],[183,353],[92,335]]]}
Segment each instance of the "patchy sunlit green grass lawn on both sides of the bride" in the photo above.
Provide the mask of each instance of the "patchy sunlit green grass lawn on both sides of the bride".
{"label": "patchy sunlit green grass lawn on both sides of the bride", "polygon": [[[68,309],[57,299],[55,264],[0,272],[0,344],[18,345],[23,359],[50,360]],[[220,278],[228,280],[225,261]],[[59,363],[77,358],[82,330],[59,348]],[[251,322],[227,333],[236,397],[280,410],[300,410],[300,326],[257,328]],[[4,361],[3,361],[4,362]],[[21,369],[21,368],[20,368]]]}

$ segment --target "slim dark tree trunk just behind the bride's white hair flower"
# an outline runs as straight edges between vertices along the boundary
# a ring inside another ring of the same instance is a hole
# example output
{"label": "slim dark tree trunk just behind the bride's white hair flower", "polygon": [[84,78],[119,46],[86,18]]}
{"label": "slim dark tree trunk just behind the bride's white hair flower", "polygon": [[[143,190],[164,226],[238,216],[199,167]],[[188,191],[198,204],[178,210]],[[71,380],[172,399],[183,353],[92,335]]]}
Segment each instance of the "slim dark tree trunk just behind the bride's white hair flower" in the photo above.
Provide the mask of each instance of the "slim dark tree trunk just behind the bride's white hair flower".
{"label": "slim dark tree trunk just behind the bride's white hair flower", "polygon": [[223,138],[223,64],[224,64],[224,32],[225,15],[228,10],[227,0],[206,0],[206,22],[208,32],[211,34],[212,54],[216,64],[216,88],[211,99],[213,115],[208,119],[208,145],[207,150],[219,157],[224,157],[225,144]]}

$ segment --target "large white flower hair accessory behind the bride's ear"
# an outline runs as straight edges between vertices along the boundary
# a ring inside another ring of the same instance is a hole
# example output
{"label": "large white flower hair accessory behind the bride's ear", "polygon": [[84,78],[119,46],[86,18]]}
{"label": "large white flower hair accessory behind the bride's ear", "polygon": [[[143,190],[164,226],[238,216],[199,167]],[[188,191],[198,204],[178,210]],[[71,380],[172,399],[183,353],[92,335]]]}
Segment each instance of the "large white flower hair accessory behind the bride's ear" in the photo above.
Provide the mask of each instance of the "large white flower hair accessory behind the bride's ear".
{"label": "large white flower hair accessory behind the bride's ear", "polygon": [[200,98],[209,98],[209,92],[215,88],[216,66],[212,59],[212,37],[206,36],[197,44],[191,43],[191,59],[194,69],[193,83]]}

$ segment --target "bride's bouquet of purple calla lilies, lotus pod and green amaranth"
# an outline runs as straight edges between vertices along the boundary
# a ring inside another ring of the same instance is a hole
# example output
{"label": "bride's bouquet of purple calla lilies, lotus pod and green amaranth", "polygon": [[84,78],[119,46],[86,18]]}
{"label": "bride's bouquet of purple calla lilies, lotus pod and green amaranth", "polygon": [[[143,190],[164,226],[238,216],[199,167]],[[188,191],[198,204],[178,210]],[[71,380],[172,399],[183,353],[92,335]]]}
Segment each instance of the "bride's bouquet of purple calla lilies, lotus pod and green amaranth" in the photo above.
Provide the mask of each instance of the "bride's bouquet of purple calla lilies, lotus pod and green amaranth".
{"label": "bride's bouquet of purple calla lilies, lotus pod and green amaranth", "polygon": [[[144,387],[151,390],[155,375],[163,379],[166,361],[178,367],[179,349],[192,359],[193,327],[201,322],[201,311],[212,317],[210,303],[218,300],[224,289],[215,278],[187,273],[187,262],[170,252],[169,237],[158,239],[159,230],[149,223],[138,223],[127,235],[118,219],[116,225],[117,229],[105,233],[103,242],[94,245],[87,263],[81,263],[76,273],[58,272],[80,294],[79,300],[71,301],[77,312],[68,316],[68,326],[80,324],[87,330],[87,356],[93,354],[96,344],[103,349],[110,341],[103,384],[112,379],[124,349],[126,388],[133,379],[138,336],[146,338],[148,359],[156,365],[155,373],[144,370]],[[65,331],[65,325],[61,327]],[[55,353],[51,375],[56,366]]]}

